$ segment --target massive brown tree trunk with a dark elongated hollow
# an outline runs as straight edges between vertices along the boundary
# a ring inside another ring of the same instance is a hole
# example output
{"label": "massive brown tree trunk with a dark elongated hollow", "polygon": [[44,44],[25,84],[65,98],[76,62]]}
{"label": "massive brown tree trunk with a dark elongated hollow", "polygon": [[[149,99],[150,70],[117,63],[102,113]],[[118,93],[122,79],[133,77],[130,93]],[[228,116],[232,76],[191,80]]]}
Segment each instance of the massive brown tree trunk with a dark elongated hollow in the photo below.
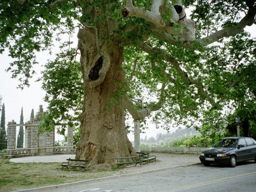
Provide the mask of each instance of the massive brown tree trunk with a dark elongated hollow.
{"label": "massive brown tree trunk with a dark elongated hollow", "polygon": [[[98,14],[100,11],[93,10]],[[125,131],[123,49],[112,31],[117,22],[101,22],[97,29],[84,26],[77,35],[84,76],[84,106],[76,159],[88,159],[88,169],[92,170],[114,165],[115,157],[133,156],[135,152]]]}

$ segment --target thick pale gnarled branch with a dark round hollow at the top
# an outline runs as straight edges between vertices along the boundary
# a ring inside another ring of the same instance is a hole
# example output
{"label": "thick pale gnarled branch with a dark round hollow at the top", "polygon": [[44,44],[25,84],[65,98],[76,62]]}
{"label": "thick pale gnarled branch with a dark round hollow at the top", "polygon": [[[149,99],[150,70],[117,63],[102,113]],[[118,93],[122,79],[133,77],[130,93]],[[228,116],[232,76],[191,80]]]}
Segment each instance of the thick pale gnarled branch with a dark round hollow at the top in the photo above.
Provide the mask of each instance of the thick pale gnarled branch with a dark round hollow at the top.
{"label": "thick pale gnarled branch with a dark round hollow at the top", "polygon": [[[171,10],[171,11],[170,11]],[[197,26],[192,20],[188,20],[181,0],[173,4],[163,3],[163,0],[154,0],[151,10],[145,7],[135,7],[131,1],[126,1],[125,9],[122,12],[123,17],[137,16],[151,22],[154,27],[168,34],[183,37],[186,41],[194,41]],[[169,21],[164,22],[163,15],[167,14]],[[182,28],[177,30],[174,24],[179,24]]]}

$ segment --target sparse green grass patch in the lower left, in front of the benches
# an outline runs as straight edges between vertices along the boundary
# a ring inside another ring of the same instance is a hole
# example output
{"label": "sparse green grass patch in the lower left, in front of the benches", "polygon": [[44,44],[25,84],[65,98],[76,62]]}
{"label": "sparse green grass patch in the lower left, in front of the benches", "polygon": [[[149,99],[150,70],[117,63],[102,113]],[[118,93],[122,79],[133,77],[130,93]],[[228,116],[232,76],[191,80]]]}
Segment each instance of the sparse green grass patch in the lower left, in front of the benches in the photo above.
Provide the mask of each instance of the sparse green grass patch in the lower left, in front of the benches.
{"label": "sparse green grass patch in the lower left, in front of the benches", "polygon": [[0,160],[0,191],[43,187],[62,183],[107,177],[113,171],[99,173],[69,169],[61,171],[61,163],[13,163],[9,159]]}

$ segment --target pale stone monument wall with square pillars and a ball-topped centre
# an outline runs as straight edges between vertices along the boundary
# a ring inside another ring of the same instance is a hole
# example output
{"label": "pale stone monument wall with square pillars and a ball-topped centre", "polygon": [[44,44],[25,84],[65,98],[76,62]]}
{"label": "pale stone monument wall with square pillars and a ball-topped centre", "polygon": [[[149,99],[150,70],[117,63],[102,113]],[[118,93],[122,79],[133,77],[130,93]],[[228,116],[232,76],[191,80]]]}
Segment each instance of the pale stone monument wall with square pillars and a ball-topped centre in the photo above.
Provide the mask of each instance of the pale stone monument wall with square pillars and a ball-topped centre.
{"label": "pale stone monument wall with square pillars and a ball-topped centre", "polygon": [[[53,154],[75,154],[73,146],[73,128],[68,126],[68,146],[55,147],[55,132],[38,133],[38,125],[42,122],[44,111],[43,106],[39,106],[34,119],[25,124],[16,124],[14,120],[8,122],[7,135],[7,155],[10,158],[34,155],[53,155]],[[25,126],[24,148],[16,148],[16,127]]]}

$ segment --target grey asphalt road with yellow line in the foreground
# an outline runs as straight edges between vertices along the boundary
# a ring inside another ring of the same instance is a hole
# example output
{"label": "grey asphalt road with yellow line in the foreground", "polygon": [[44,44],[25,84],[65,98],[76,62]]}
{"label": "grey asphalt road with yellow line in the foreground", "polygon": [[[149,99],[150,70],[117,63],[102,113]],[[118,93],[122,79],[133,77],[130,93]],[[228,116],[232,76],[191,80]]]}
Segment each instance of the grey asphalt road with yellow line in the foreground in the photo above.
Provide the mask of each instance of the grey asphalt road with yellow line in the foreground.
{"label": "grey asphalt road with yellow line in the foreground", "polygon": [[103,179],[35,188],[27,191],[44,192],[255,192],[256,164],[254,161],[238,163],[235,168],[203,164],[174,167],[161,171],[121,175]]}

